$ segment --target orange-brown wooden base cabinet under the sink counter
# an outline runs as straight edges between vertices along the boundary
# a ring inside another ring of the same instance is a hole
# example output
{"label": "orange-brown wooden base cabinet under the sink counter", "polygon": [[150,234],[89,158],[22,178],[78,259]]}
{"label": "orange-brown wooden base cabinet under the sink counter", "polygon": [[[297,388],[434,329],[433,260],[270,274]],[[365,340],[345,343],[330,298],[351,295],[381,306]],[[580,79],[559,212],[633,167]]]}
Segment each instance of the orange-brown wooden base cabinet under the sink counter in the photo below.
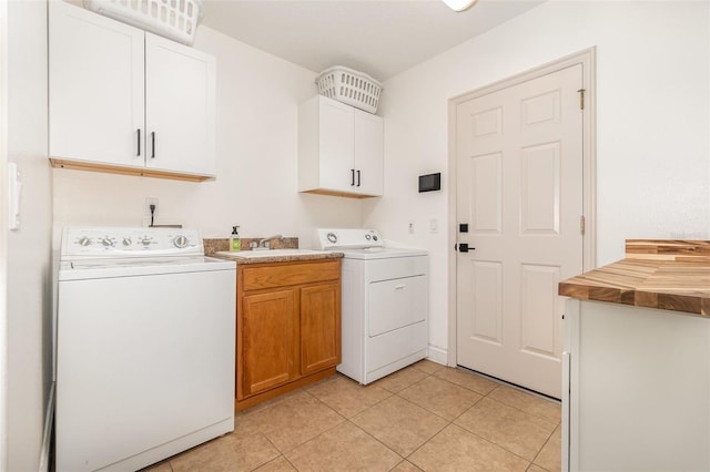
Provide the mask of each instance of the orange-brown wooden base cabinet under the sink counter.
{"label": "orange-brown wooden base cabinet under the sink counter", "polygon": [[335,373],[341,259],[237,266],[236,410]]}

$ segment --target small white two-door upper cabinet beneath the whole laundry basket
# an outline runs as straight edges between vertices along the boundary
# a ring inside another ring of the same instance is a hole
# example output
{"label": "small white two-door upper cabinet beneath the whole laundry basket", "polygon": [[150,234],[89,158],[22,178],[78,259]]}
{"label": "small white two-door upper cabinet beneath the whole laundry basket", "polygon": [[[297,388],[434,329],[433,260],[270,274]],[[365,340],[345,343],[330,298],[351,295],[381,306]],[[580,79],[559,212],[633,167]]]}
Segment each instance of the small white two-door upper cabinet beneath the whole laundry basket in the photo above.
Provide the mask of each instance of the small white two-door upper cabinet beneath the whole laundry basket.
{"label": "small white two-door upper cabinet beneath the whole laundry basket", "polygon": [[298,109],[298,191],[381,196],[383,120],[316,95]]}

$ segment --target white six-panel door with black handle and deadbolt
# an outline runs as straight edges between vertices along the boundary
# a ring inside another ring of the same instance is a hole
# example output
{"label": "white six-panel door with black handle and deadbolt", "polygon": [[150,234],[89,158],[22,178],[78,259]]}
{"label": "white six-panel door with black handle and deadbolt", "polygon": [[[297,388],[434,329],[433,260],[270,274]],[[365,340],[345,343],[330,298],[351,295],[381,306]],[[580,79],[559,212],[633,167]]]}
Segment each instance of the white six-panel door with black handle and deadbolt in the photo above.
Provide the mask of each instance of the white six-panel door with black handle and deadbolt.
{"label": "white six-panel door with black handle and deadbolt", "polygon": [[[457,106],[457,362],[560,398],[560,279],[582,271],[581,65]],[[460,224],[468,230],[460,232]]]}

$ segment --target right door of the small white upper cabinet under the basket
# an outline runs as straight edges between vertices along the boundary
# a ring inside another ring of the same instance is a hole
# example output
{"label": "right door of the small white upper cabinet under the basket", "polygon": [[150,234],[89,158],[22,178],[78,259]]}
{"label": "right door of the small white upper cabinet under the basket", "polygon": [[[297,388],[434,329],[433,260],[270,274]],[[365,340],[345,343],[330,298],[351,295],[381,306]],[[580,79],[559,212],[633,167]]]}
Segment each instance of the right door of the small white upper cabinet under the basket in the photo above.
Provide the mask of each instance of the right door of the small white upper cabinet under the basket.
{"label": "right door of the small white upper cabinet under the basket", "polygon": [[383,194],[384,137],[383,120],[361,110],[355,112],[355,172],[358,194],[378,196]]}

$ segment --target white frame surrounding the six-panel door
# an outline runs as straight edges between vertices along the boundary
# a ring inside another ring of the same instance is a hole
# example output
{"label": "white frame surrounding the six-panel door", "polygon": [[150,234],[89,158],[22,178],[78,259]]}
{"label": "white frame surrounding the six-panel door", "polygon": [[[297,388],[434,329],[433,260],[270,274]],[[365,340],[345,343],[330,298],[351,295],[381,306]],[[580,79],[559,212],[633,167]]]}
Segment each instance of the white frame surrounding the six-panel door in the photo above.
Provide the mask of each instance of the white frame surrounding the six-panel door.
{"label": "white frame surrounding the six-panel door", "polygon": [[[493,92],[518,85],[532,79],[567,69],[582,65],[582,83],[585,90],[585,109],[582,116],[582,212],[585,216],[585,235],[582,238],[582,270],[591,270],[597,265],[597,137],[596,137],[596,47],[566,55],[537,68],[508,76],[480,89],[454,96],[448,101],[448,247],[456,244],[456,110],[460,103],[477,99]],[[448,349],[447,365],[457,365],[456,342],[456,252],[448,252]]]}

